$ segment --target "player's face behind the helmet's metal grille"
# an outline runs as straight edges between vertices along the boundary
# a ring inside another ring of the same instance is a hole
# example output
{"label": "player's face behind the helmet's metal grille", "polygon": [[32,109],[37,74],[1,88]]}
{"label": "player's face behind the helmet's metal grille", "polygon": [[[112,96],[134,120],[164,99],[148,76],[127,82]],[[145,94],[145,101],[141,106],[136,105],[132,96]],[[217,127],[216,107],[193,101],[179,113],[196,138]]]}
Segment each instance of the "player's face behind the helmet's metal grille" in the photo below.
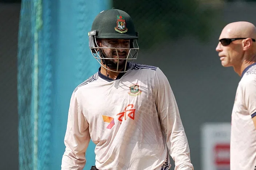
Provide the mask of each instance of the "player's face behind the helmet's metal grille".
{"label": "player's face behind the helmet's metal grille", "polygon": [[[127,58],[129,54],[130,40],[104,38],[99,40],[99,46],[117,48],[117,49],[104,48],[104,49],[101,49],[101,51],[106,58],[113,58],[113,59],[107,59],[108,63],[111,63],[114,66],[117,66],[118,58],[119,58],[118,67],[120,69],[124,68],[126,59],[120,59],[120,58]],[[127,48],[127,49],[120,49],[120,48]]]}

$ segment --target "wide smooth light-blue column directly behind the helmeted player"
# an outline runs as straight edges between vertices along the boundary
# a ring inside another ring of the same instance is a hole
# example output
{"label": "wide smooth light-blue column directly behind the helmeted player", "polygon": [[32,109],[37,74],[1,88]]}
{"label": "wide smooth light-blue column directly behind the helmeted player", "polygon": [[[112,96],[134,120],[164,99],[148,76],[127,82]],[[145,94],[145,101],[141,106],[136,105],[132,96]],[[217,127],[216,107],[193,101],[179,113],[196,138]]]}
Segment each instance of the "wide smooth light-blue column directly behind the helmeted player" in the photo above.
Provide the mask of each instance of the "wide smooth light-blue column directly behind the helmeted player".
{"label": "wide smooth light-blue column directly behind the helmeted player", "polygon": [[[100,11],[111,8],[111,3],[109,0],[46,0],[43,3],[44,9],[49,10],[44,11],[45,21],[48,17],[51,20],[49,41],[52,49],[53,87],[49,167],[57,170],[60,169],[65,150],[64,135],[71,94],[76,86],[99,68],[99,63],[89,50],[88,31],[95,16]],[[95,145],[91,142],[87,150],[86,170],[95,164],[94,148]]]}

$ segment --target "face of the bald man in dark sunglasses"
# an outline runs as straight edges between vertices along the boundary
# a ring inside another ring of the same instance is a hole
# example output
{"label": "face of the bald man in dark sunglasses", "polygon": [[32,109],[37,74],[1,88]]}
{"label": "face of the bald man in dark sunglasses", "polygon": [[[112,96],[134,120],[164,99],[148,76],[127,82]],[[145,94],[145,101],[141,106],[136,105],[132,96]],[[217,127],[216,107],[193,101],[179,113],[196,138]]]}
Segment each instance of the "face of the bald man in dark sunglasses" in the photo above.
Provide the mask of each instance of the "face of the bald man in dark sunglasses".
{"label": "face of the bald man in dark sunglasses", "polygon": [[[222,38],[240,38],[230,33],[230,30],[223,29],[220,34],[219,40]],[[221,65],[224,67],[236,66],[241,63],[243,56],[243,40],[232,41],[229,45],[224,46],[220,42],[216,47],[216,51],[219,53]]]}

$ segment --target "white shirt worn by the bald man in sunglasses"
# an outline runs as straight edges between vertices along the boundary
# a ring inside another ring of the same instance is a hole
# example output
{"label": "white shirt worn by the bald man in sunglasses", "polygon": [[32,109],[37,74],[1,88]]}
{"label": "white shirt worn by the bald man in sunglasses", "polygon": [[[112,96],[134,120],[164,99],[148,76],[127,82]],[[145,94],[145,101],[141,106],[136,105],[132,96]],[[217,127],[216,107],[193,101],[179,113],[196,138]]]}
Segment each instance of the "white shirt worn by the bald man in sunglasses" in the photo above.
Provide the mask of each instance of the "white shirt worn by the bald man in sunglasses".
{"label": "white shirt worn by the bald man in sunglasses", "polygon": [[231,120],[230,170],[256,169],[256,64],[248,66],[238,84]]}

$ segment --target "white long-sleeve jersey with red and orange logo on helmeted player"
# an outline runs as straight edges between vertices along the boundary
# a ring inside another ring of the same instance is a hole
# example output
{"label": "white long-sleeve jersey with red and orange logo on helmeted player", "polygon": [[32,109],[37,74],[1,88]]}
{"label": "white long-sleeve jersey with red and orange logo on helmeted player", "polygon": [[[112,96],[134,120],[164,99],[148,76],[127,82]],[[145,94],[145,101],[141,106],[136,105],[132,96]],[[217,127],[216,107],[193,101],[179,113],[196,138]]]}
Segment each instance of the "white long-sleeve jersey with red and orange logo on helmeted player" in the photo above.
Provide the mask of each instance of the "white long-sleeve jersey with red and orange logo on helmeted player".
{"label": "white long-sleeve jersey with red and orange logo on helmeted player", "polygon": [[[158,67],[131,64],[116,80],[100,70],[71,97],[61,170],[82,170],[90,139],[99,170],[193,170],[175,96]],[[91,166],[91,165],[90,165]]]}

